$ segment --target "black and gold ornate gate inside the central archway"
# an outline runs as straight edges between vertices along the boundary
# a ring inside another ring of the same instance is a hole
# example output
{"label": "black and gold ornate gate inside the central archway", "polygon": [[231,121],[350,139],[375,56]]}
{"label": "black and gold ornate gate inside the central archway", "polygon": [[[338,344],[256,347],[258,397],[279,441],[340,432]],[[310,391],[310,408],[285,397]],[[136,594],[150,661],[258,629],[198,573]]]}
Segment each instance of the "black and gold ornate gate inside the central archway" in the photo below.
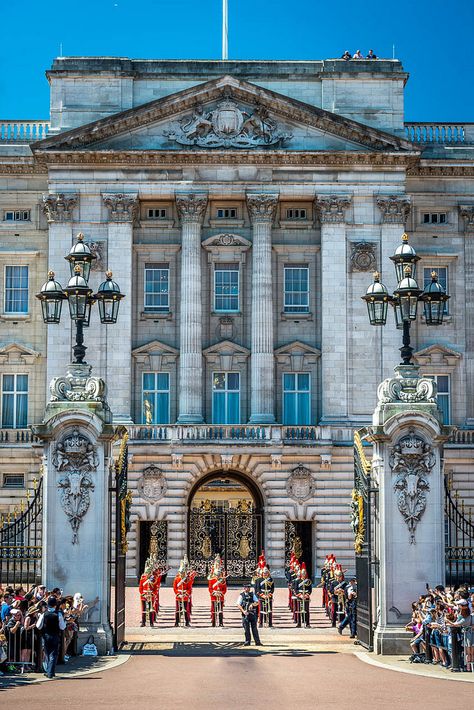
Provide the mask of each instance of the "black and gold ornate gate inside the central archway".
{"label": "black and gold ornate gate inside the central archway", "polygon": [[198,578],[209,574],[216,554],[229,579],[249,578],[257,566],[262,541],[262,515],[238,509],[192,509],[189,512],[189,562]]}

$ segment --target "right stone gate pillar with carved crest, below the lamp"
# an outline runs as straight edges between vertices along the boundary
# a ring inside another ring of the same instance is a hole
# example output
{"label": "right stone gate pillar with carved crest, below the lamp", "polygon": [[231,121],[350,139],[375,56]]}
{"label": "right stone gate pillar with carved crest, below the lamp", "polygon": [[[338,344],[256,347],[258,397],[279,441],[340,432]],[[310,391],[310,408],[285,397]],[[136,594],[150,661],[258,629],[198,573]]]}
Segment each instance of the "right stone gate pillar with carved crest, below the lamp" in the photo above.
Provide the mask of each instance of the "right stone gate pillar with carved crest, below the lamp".
{"label": "right stone gate pillar with carved crest, below the lamp", "polygon": [[[436,384],[416,365],[399,365],[378,388],[370,440],[375,521],[377,626],[374,650],[406,653],[411,603],[442,584],[444,556],[443,426]],[[378,559],[377,559],[378,558]],[[378,564],[377,564],[378,563]]]}

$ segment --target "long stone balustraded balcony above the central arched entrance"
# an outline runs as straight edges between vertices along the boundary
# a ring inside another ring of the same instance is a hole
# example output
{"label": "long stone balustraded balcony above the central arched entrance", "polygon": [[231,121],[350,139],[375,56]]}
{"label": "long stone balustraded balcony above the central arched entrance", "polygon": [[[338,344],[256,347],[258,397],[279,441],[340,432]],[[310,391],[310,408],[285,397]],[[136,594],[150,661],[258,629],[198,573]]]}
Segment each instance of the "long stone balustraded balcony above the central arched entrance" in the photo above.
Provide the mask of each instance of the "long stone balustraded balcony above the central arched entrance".
{"label": "long stone balustraded balcony above the central arched entrance", "polygon": [[128,428],[130,442],[153,441],[157,444],[233,444],[317,446],[353,441],[350,426],[271,425],[133,425]]}

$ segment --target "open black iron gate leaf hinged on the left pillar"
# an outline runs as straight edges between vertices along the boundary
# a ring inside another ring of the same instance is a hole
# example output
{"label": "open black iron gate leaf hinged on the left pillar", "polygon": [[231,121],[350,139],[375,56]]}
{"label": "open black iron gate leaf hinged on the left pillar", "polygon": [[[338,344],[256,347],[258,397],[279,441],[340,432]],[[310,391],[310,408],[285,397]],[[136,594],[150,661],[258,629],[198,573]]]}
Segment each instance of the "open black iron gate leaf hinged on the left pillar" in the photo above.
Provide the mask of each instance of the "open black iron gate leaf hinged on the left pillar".
{"label": "open black iron gate leaf hinged on the left pillar", "polygon": [[115,462],[115,485],[111,488],[113,515],[111,579],[114,581],[114,613],[111,619],[114,631],[114,647],[120,648],[125,640],[125,570],[127,533],[130,530],[130,507],[132,494],[128,490],[128,436],[124,434],[118,458]]}

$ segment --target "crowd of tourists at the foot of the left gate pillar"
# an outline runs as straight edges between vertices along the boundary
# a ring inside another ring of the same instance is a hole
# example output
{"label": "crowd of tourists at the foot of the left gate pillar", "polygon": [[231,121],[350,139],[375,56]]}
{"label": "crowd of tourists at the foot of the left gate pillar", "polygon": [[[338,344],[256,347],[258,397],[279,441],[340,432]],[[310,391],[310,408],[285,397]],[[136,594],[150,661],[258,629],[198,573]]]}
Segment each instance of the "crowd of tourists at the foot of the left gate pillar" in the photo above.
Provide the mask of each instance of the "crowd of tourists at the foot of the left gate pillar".
{"label": "crowd of tourists at the foot of the left gate pillar", "polygon": [[88,606],[78,592],[47,590],[44,584],[26,591],[23,587],[0,588],[0,673],[20,670],[43,672],[45,663],[45,613],[58,616],[57,662],[67,663],[76,655],[78,619]]}

